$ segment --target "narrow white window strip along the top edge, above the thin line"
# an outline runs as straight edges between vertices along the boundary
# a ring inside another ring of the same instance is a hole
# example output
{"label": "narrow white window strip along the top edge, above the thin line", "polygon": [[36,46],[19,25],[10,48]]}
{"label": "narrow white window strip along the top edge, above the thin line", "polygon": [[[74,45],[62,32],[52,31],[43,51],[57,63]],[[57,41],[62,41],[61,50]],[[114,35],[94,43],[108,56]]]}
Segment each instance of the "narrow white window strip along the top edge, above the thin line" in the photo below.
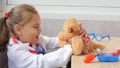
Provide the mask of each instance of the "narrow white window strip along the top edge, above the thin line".
{"label": "narrow white window strip along the top edge, above the thin line", "polygon": [[57,5],[79,7],[120,7],[120,0],[8,0],[8,4]]}

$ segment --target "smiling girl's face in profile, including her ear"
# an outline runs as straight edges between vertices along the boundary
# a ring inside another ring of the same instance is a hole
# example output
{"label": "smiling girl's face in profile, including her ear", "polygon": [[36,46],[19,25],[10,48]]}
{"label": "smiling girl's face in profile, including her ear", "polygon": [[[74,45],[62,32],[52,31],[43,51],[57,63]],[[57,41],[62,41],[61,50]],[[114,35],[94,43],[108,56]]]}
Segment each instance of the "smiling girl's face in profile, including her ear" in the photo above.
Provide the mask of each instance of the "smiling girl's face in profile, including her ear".
{"label": "smiling girl's face in profile, including her ear", "polygon": [[19,39],[23,43],[36,44],[38,36],[41,32],[40,17],[38,14],[34,14],[32,18],[18,30]]}

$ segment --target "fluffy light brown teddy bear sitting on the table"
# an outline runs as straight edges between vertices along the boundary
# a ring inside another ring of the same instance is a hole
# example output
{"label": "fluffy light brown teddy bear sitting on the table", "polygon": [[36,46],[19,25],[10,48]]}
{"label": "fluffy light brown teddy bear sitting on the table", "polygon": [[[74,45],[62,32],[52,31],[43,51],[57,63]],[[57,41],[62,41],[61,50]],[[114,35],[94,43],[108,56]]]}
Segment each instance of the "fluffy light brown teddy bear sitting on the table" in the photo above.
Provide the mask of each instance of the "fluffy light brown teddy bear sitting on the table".
{"label": "fluffy light brown teddy bear sitting on the table", "polygon": [[82,23],[77,23],[75,18],[69,18],[58,33],[59,45],[71,44],[74,55],[93,52],[96,48],[103,50],[104,45],[90,40],[87,32],[82,28]]}

